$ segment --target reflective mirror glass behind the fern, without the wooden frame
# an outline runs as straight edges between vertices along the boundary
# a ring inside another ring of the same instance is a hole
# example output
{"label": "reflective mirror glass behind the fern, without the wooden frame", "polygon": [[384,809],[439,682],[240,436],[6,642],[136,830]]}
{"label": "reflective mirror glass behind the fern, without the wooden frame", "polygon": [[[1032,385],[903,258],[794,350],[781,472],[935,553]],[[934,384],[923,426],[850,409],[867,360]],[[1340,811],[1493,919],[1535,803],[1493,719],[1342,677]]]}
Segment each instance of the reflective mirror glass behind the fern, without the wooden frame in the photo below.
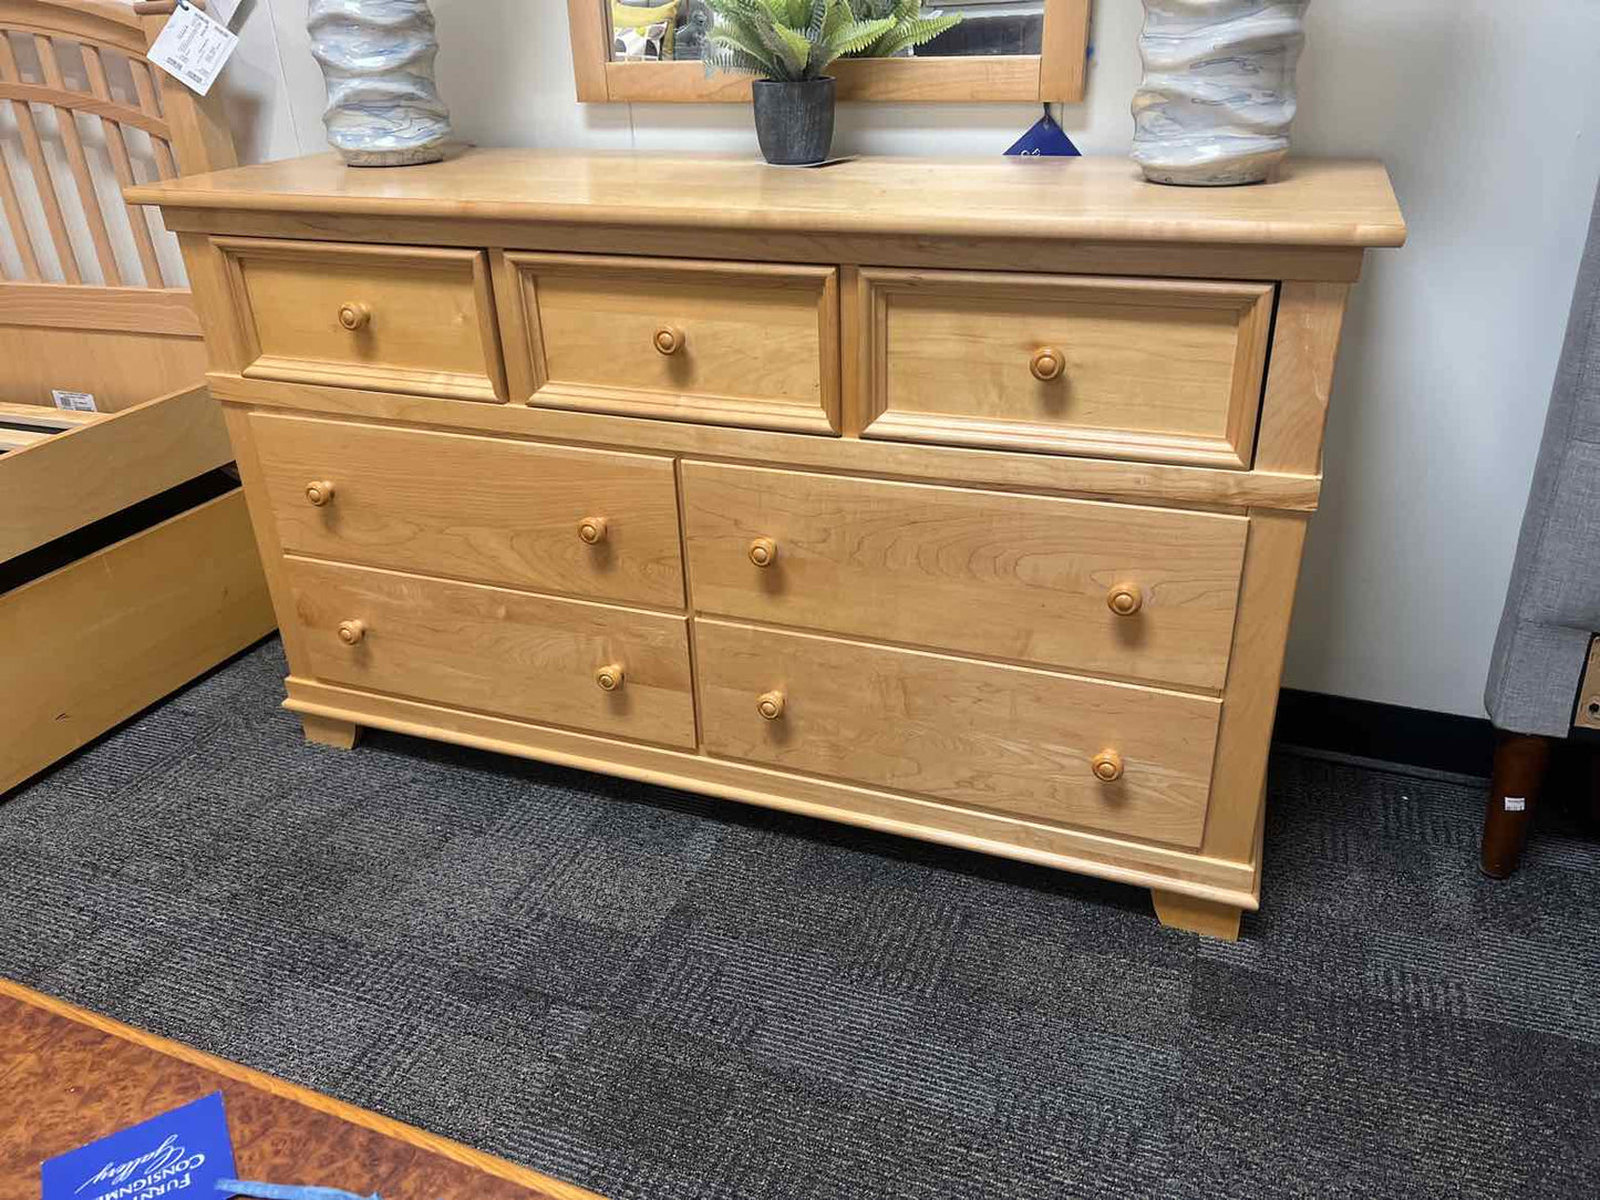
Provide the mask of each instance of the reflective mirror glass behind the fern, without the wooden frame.
{"label": "reflective mirror glass behind the fern, without the wooden frame", "polygon": [[[613,62],[701,59],[715,16],[706,0],[597,0],[608,10]],[[890,16],[894,0],[851,0],[861,19]],[[882,10],[882,11],[878,11]],[[1043,0],[928,0],[923,18],[942,13],[949,26],[901,58],[966,58],[973,54],[1038,54],[1045,27]],[[957,18],[949,21],[949,18]]]}

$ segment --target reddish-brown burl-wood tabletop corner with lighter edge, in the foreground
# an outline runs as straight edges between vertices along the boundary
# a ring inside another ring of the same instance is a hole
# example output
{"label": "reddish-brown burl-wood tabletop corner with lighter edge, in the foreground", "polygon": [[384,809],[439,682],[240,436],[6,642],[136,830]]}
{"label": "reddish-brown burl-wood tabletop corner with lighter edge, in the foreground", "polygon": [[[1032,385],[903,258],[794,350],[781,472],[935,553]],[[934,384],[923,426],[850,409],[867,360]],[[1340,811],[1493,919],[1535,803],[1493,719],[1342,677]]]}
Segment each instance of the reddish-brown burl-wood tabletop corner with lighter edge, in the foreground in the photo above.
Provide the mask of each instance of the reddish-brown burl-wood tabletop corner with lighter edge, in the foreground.
{"label": "reddish-brown burl-wood tabletop corner with lighter edge, in the foreground", "polygon": [[222,1091],[238,1171],[387,1200],[598,1200],[526,1166],[0,979],[0,1200],[38,1163]]}

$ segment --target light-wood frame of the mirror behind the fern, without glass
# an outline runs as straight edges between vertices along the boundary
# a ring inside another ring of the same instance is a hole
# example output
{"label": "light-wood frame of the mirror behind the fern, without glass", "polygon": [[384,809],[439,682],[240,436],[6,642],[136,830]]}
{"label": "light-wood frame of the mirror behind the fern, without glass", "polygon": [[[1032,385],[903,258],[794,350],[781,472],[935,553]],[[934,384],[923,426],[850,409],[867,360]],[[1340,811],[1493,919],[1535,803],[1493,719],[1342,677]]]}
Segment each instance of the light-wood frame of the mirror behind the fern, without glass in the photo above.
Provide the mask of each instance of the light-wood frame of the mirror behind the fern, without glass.
{"label": "light-wood frame of the mirror behind the fern, without glass", "polygon": [[[842,101],[1066,101],[1083,99],[1090,0],[1043,0],[1038,54],[858,58],[830,69]],[[573,75],[584,102],[739,102],[752,75],[717,74],[694,61],[613,62],[606,0],[566,0]]]}

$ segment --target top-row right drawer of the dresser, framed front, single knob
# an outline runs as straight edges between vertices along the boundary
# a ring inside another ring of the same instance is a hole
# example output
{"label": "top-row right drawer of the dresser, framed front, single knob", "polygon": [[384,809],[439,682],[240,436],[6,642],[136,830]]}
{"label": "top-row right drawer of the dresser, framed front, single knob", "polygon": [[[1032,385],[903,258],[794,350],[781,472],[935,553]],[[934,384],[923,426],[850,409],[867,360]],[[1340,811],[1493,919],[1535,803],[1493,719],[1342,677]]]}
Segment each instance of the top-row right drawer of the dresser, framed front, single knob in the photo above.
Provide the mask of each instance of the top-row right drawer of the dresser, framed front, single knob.
{"label": "top-row right drawer of the dresser, framed front, single knob", "polygon": [[861,272],[866,437],[1248,467],[1267,283]]}

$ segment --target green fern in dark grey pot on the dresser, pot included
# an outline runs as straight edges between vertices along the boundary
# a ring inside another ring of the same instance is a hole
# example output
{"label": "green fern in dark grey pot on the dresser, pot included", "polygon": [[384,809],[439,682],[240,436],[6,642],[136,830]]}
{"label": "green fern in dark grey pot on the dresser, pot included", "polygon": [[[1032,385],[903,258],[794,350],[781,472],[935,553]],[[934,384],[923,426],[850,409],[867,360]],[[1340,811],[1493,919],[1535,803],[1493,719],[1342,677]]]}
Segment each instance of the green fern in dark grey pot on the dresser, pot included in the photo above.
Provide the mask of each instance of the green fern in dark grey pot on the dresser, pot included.
{"label": "green fern in dark grey pot on the dresser, pot included", "polygon": [[[923,14],[922,0],[707,0],[717,22],[706,70],[760,75],[752,86],[755,139],[770,163],[827,158],[834,141],[834,78],[845,54],[888,56],[922,45],[960,18]],[[872,16],[866,13],[870,11]]]}

